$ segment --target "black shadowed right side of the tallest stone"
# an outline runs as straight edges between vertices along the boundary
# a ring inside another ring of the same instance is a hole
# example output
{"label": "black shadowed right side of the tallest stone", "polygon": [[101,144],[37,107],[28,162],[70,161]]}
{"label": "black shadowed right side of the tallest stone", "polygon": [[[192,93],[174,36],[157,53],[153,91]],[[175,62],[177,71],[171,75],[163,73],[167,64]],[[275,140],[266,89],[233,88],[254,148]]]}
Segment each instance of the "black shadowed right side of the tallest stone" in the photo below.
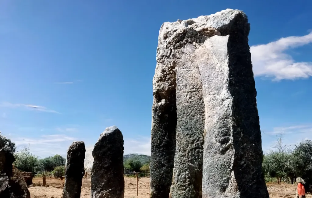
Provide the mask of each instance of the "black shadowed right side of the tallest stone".
{"label": "black shadowed right side of the tallest stone", "polygon": [[240,198],[269,197],[261,170],[263,156],[256,88],[248,45],[250,24],[239,14],[231,21],[227,46],[229,56],[229,91],[233,97],[233,170]]}

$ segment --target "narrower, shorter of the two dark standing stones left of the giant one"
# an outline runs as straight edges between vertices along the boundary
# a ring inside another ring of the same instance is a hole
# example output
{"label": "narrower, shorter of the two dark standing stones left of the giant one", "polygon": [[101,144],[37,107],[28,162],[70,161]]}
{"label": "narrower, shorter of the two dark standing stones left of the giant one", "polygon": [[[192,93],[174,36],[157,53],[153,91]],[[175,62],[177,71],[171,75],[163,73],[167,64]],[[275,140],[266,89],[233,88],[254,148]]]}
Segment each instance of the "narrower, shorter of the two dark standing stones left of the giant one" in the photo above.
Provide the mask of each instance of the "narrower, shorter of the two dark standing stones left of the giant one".
{"label": "narrower, shorter of the two dark standing stones left of the giant one", "polygon": [[85,175],[85,142],[73,142],[67,151],[65,183],[62,198],[80,198]]}

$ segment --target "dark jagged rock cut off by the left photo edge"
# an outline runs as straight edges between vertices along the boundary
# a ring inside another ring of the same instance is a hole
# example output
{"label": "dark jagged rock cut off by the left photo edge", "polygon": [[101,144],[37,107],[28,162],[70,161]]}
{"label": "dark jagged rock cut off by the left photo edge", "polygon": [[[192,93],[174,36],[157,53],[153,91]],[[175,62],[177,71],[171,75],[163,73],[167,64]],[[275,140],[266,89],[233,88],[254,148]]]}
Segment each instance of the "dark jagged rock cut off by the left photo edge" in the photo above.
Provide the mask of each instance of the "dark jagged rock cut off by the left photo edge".
{"label": "dark jagged rock cut off by the left photo edge", "polygon": [[15,144],[0,134],[0,197],[30,198],[21,172],[13,169]]}

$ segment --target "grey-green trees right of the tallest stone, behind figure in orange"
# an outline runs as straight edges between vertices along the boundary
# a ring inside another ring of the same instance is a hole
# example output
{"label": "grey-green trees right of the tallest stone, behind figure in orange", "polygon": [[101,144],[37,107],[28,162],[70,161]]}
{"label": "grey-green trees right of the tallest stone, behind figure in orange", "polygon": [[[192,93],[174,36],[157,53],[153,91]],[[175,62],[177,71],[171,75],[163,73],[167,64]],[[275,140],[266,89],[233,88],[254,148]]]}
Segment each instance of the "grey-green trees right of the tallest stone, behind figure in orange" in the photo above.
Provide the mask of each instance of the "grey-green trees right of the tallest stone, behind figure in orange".
{"label": "grey-green trees right of the tallest stone, behind figure in orange", "polygon": [[294,148],[283,144],[282,135],[277,136],[274,150],[264,155],[262,162],[266,182],[281,181],[292,183],[296,177],[301,177],[306,182],[306,187],[311,189],[312,184],[312,141],[305,140]]}

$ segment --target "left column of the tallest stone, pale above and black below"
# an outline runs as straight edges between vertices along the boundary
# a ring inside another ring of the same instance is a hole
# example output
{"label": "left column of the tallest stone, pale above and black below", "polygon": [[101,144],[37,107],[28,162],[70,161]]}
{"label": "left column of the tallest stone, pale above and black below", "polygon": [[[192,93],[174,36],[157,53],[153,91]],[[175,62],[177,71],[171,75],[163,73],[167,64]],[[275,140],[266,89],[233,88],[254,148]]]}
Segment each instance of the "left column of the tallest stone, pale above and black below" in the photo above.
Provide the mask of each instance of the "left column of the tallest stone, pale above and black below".
{"label": "left column of the tallest stone, pale above and black below", "polygon": [[[162,29],[160,30],[160,32]],[[169,196],[177,126],[175,57],[158,37],[157,65],[153,78],[150,196]]]}

